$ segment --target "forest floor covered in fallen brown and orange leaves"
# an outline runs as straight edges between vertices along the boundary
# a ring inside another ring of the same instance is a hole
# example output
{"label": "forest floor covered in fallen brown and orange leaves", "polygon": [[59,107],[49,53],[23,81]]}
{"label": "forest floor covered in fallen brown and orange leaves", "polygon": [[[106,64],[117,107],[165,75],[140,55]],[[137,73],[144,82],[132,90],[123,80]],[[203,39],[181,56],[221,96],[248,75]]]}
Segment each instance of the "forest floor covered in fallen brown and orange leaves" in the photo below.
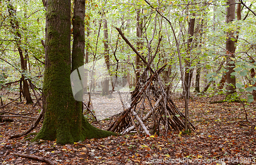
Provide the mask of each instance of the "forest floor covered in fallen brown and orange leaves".
{"label": "forest floor covered in fallen brown and orange leaves", "polygon": [[[9,94],[8,97],[18,96]],[[196,130],[190,135],[169,132],[167,138],[127,134],[64,146],[50,141],[31,143],[34,135],[8,140],[11,135],[26,131],[35,120],[8,117],[14,121],[0,123],[0,164],[46,164],[15,156],[13,152],[41,156],[56,164],[256,164],[256,103],[246,107],[249,121],[245,121],[242,103],[209,103],[223,97],[193,96],[189,111]],[[180,110],[183,109],[182,99],[172,99]],[[0,111],[32,113],[27,116],[36,118],[40,108],[14,101]],[[39,123],[33,132],[38,132],[41,125]],[[109,125],[110,120],[102,120],[95,126],[107,129]]]}

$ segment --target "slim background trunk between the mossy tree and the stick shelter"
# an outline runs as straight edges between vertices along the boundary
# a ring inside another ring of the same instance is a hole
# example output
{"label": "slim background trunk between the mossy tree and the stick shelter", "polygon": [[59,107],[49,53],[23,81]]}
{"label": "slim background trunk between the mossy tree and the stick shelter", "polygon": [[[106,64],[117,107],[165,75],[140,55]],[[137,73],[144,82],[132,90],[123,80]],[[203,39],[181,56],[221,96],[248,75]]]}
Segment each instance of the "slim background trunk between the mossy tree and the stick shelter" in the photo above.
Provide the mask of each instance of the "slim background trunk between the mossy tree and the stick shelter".
{"label": "slim background trunk between the mossy tree and the stick shelter", "polygon": [[[108,21],[106,19],[103,19],[103,34],[104,34],[104,59],[106,63],[106,68],[108,68],[108,71],[110,69],[110,52],[109,52],[109,35],[108,35]],[[109,95],[109,85],[110,79],[109,77],[104,77],[103,80],[103,89],[101,92],[102,96]]]}

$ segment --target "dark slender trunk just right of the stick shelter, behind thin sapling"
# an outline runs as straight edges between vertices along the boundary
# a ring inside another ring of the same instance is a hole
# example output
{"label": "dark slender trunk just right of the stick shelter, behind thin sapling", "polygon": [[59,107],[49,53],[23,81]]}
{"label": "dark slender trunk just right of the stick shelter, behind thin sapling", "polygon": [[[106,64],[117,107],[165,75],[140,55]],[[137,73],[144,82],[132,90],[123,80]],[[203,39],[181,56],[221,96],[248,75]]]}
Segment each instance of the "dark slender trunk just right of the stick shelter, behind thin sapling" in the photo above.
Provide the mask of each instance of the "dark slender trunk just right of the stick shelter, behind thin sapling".
{"label": "dark slender trunk just right of the stick shelter, behind thin sapling", "polygon": [[188,25],[188,39],[187,39],[187,59],[185,59],[185,75],[184,75],[184,83],[185,83],[185,89],[183,89],[182,92],[182,97],[189,97],[189,88],[190,88],[190,82],[191,78],[193,75],[193,70],[190,69],[190,51],[191,51],[191,42],[193,40],[193,35],[194,35],[194,26],[195,26],[195,18],[191,18],[189,20],[189,25]]}

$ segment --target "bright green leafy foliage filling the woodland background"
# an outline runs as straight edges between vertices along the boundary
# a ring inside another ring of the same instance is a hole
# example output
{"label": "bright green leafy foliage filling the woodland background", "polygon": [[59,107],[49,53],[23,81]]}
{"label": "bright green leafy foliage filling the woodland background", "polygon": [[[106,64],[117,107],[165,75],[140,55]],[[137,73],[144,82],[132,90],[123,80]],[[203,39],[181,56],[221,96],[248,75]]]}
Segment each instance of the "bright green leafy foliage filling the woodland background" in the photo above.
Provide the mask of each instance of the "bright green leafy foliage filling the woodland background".
{"label": "bright green leafy foliage filling the woodland background", "polygon": [[[5,1],[6,3],[8,1]],[[9,16],[6,3],[1,4],[0,19],[3,26],[0,29],[1,39],[1,58],[10,64],[0,60],[0,68],[5,69],[8,77],[3,79],[0,72],[0,85],[4,82],[14,81],[20,78],[22,70],[20,69],[20,59],[17,51],[16,32],[22,36],[20,38],[20,47],[28,52],[28,69],[23,74],[33,81],[38,88],[42,88],[42,75],[44,72],[45,50],[41,44],[41,40],[45,40],[45,8],[41,1],[30,1],[27,4],[20,1],[13,1],[16,9],[16,15]],[[72,2],[72,6],[74,2]],[[225,42],[227,32],[234,32],[232,41],[236,42],[236,57],[233,63],[236,65],[232,77],[236,77],[237,91],[251,93],[256,77],[250,76],[250,69],[256,69],[255,61],[255,36],[256,36],[256,19],[248,14],[247,11],[242,12],[242,20],[234,20],[225,23],[226,1],[209,2],[207,4],[198,3],[197,1],[166,1],[159,4],[158,1],[150,2],[162,16],[166,17],[173,25],[176,36],[178,36],[178,44],[181,53],[182,67],[186,66],[186,61],[190,63],[189,70],[201,68],[201,80],[215,81],[219,86],[222,75],[225,75],[226,63],[222,64],[220,71],[218,68],[222,61],[226,61]],[[187,3],[190,3],[187,5]],[[214,5],[212,5],[214,4]],[[136,36],[136,17],[137,10],[141,10],[140,18],[143,24],[142,38]],[[251,9],[256,9],[252,4]],[[72,13],[73,14],[73,13]],[[12,29],[10,20],[16,19],[19,23],[18,29]],[[195,35],[191,45],[191,52],[187,54],[187,39],[191,36],[187,35],[189,19],[195,18]],[[104,43],[102,20],[108,21],[108,43],[110,47],[110,70],[111,76],[117,75],[125,77],[129,73],[132,85],[135,86],[136,54],[127,46],[120,38],[115,27],[121,28],[125,37],[134,45],[136,49],[137,43],[142,42],[142,49],[138,51],[146,58],[147,61],[155,54],[156,47],[160,36],[163,36],[153,61],[154,69],[167,64],[167,77],[165,84],[172,84],[175,91],[181,90],[180,85],[180,68],[177,56],[177,47],[174,40],[174,34],[169,23],[163,19],[156,10],[152,9],[143,0],[131,2],[111,1],[96,2],[86,1],[86,47],[89,53],[89,62],[103,59]],[[207,23],[206,23],[207,22]],[[89,34],[89,35],[87,35]],[[38,60],[41,62],[39,62]],[[117,69],[117,60],[119,62]],[[142,71],[145,66],[141,66]],[[179,73],[179,74],[178,74]],[[172,82],[170,82],[172,80]],[[194,80],[194,79],[193,79]],[[247,86],[246,86],[247,85]],[[1,88],[1,86],[0,86]],[[15,88],[15,87],[14,87]],[[17,89],[18,87],[16,87]],[[134,88],[134,87],[133,87]],[[210,87],[211,88],[211,87]],[[222,91],[223,92],[223,91]],[[251,99],[250,99],[251,100]],[[249,98],[248,98],[249,101]]]}

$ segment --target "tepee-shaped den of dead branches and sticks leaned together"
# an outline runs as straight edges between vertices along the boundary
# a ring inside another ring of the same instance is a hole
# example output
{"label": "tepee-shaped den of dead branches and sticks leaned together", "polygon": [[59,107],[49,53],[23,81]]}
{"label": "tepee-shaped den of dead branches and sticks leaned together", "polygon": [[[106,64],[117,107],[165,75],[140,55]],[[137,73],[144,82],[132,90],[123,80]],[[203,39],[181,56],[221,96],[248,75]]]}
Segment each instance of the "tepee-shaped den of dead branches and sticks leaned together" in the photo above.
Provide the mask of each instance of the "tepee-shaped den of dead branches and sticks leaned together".
{"label": "tepee-shaped den of dead branches and sticks leaned together", "polygon": [[[132,92],[131,100],[128,102],[122,102],[124,112],[122,112],[118,118],[111,124],[108,130],[123,133],[129,133],[131,130],[135,129],[138,133],[142,130],[150,135],[151,132],[148,128],[152,126],[152,133],[162,132],[162,126],[164,126],[165,136],[167,136],[167,131],[174,129],[181,131],[185,128],[185,116],[182,114],[177,106],[174,104],[172,99],[165,92],[165,86],[161,80],[160,74],[164,70],[167,64],[162,66],[157,71],[154,71],[151,66],[152,61],[156,57],[158,52],[158,46],[161,42],[159,39],[159,44],[157,46],[154,56],[147,62],[143,56],[133,47],[133,45],[124,37],[120,29],[116,28],[123,40],[133,49],[138,57],[145,64],[145,69],[137,82],[135,90]],[[151,75],[150,75],[151,74]],[[147,77],[142,79],[142,77]],[[150,104],[150,111],[144,114],[144,101],[147,98],[148,104]],[[143,100],[143,101],[141,101]],[[154,100],[155,103],[154,103]],[[140,104],[140,107],[136,109],[136,106]],[[153,119],[149,118],[153,116]],[[151,124],[150,124],[151,123]],[[195,127],[189,122],[191,129],[194,130]],[[140,126],[140,129],[138,128]]]}

